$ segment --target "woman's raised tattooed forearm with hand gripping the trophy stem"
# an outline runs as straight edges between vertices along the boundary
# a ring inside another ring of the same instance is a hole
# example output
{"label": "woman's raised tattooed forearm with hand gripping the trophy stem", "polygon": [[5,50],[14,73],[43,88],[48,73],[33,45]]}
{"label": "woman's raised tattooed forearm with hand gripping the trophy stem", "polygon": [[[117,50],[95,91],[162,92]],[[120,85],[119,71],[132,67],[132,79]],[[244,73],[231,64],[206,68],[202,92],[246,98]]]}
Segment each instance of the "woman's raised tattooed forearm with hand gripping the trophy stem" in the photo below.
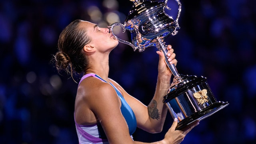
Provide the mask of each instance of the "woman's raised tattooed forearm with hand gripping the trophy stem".
{"label": "woman's raised tattooed forearm with hand gripping the trophy stem", "polygon": [[[177,64],[175,58],[175,53],[172,46],[168,45],[168,62],[171,64]],[[166,66],[166,61],[163,52],[157,51],[159,55],[158,62],[158,79],[156,83],[156,91],[154,97],[152,98],[150,104],[148,105],[148,115],[149,115],[149,126],[150,130],[153,132],[161,132],[164,126],[164,121],[166,119],[166,114],[168,108],[164,105],[163,99],[167,94],[168,88],[170,88],[172,73]]]}

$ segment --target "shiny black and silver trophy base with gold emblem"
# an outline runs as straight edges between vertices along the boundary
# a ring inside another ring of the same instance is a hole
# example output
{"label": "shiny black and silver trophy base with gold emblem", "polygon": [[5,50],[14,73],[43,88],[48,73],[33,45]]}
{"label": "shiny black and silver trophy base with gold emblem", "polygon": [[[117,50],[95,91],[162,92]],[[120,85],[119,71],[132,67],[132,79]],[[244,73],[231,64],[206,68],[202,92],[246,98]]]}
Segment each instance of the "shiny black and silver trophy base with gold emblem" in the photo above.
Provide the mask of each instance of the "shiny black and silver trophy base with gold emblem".
{"label": "shiny black and silver trophy base with gold emblem", "polygon": [[172,118],[178,119],[176,130],[186,130],[229,104],[216,100],[205,77],[188,75],[180,75],[163,102]]}

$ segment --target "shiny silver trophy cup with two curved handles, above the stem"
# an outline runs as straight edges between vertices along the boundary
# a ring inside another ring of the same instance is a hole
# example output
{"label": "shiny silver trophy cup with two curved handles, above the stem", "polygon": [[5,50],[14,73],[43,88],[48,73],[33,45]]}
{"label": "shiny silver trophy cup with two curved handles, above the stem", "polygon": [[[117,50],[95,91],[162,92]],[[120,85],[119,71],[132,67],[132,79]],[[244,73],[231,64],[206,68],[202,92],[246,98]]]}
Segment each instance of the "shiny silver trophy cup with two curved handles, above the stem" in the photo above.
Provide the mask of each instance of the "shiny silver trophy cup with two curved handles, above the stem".
{"label": "shiny silver trophy cup with two curved handles, above the stem", "polygon": [[[167,6],[168,0],[165,0],[165,2],[133,0],[133,2],[134,5],[125,22],[123,24],[114,23],[109,26],[112,34],[119,42],[130,45],[134,51],[138,49],[142,52],[150,46],[156,46],[157,38],[165,39],[170,34],[177,34],[180,28],[178,18],[181,12],[181,3],[179,0],[176,0],[179,5],[176,20],[164,12],[165,9],[170,10]],[[132,42],[118,38],[113,33],[115,26],[121,26],[124,30],[123,32],[128,30],[131,33]]]}

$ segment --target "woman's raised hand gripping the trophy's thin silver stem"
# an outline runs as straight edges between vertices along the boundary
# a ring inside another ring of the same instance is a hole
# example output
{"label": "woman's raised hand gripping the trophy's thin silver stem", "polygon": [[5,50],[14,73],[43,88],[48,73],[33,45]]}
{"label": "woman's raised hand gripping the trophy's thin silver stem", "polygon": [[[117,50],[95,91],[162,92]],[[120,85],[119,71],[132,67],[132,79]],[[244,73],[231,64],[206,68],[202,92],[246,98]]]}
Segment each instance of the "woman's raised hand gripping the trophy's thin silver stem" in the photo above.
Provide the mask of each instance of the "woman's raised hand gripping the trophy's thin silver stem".
{"label": "woman's raised hand gripping the trophy's thin silver stem", "polygon": [[[175,59],[176,54],[174,53],[172,46],[168,45],[167,49],[168,49],[168,52],[167,52],[166,56],[168,57],[168,62],[170,64],[175,64],[175,66],[176,66],[176,64],[177,64],[177,60]],[[157,51],[156,53],[159,55],[158,75],[171,77],[172,72],[166,65],[164,53],[162,51]]]}

